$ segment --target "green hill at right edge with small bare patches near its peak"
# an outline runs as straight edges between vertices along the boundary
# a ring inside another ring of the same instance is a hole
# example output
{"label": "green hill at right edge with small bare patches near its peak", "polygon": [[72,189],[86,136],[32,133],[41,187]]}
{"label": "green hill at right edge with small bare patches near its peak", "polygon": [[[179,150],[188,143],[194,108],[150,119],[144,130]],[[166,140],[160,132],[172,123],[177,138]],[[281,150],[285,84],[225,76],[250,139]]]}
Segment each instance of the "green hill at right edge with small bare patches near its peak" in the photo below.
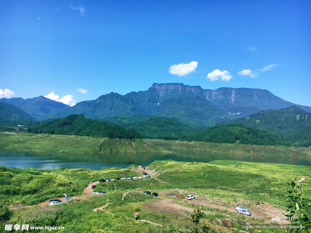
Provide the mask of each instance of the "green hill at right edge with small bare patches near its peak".
{"label": "green hill at right edge with small bare patches near its peak", "polygon": [[279,110],[267,110],[249,117],[222,122],[243,124],[283,137],[293,146],[311,145],[311,114],[299,107],[291,106]]}

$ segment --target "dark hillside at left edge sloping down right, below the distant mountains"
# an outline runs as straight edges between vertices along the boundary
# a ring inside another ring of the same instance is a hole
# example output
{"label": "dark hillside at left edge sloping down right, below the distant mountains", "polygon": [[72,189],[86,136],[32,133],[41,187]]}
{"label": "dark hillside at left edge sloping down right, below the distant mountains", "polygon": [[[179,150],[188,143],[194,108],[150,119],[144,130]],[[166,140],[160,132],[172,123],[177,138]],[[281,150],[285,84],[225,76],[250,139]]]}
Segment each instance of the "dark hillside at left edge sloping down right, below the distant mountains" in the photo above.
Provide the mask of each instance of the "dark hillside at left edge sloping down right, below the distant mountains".
{"label": "dark hillside at left edge sloping down right, below the distant mountains", "polygon": [[[30,116],[30,114],[24,112],[19,107],[16,107],[10,103],[0,102],[0,123],[5,121],[19,120],[35,121],[35,119]],[[17,127],[17,124],[15,127]]]}

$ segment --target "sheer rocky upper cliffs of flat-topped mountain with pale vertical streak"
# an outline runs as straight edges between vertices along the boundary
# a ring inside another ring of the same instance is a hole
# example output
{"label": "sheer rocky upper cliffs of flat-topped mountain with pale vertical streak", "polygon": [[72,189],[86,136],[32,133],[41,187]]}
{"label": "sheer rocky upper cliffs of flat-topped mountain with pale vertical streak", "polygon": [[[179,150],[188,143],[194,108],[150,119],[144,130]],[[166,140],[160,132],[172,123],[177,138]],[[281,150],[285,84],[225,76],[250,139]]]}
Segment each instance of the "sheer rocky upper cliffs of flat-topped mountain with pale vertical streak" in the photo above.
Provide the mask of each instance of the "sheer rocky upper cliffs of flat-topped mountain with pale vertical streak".
{"label": "sheer rocky upper cliffs of flat-topped mountain with pale vertical streak", "polygon": [[[295,105],[263,89],[222,87],[211,90],[182,83],[154,83],[152,89],[156,94],[161,95],[162,101],[191,91],[197,96],[206,98],[234,118],[247,117],[261,110],[281,109]],[[308,106],[297,106],[305,111],[311,109]]]}

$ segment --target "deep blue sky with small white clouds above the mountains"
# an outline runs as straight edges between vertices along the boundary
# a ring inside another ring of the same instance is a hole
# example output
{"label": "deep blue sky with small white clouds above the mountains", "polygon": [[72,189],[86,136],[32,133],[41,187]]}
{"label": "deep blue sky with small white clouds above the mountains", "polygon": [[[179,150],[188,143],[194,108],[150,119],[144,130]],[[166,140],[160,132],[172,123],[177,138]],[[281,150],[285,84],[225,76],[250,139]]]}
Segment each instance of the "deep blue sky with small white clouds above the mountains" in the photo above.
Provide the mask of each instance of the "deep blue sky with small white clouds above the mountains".
{"label": "deep blue sky with small white clouds above the mountains", "polygon": [[74,105],[174,82],[267,89],[311,106],[310,10],[310,1],[2,0],[0,98]]}

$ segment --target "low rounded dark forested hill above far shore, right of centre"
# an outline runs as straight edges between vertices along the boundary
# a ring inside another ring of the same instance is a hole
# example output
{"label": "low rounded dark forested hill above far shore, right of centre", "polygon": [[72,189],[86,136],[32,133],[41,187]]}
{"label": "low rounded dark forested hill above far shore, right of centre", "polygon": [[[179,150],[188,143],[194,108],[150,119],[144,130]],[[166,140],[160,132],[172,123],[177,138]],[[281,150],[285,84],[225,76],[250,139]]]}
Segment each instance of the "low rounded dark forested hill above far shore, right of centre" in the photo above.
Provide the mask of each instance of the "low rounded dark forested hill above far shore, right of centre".
{"label": "low rounded dark forested hill above far shore, right of centre", "polygon": [[290,146],[287,141],[278,135],[266,133],[240,124],[228,124],[226,126],[211,127],[196,134],[184,136],[181,140]]}

